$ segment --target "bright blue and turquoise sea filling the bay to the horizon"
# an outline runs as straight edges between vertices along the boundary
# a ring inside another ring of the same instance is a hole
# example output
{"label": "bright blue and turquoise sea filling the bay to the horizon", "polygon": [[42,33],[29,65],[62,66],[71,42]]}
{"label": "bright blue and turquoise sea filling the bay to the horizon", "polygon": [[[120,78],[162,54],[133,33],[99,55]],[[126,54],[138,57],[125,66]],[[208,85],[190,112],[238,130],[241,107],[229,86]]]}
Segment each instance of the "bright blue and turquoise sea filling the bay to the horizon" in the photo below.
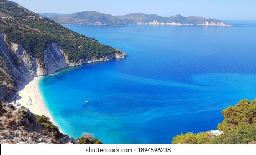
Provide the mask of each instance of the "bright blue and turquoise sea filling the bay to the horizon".
{"label": "bright blue and turquoise sea filling the bay to the horizon", "polygon": [[216,130],[221,110],[256,98],[256,22],[231,24],[65,25],[129,57],[45,76],[40,91],[75,138],[89,132],[103,143],[171,143],[181,132]]}

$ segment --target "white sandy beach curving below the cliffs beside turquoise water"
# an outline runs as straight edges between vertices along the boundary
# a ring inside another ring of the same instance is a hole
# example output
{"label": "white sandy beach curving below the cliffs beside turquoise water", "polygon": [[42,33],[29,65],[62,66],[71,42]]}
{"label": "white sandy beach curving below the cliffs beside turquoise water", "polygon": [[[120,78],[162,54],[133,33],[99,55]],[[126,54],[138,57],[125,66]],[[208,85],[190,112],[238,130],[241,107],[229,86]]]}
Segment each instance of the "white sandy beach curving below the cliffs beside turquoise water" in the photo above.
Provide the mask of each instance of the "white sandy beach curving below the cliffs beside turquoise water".
{"label": "white sandy beach curving below the cliffs beside turquoise water", "polygon": [[[41,78],[42,76],[34,77],[32,81],[22,84],[17,89],[16,95],[14,95],[11,104],[17,108],[24,106],[37,115],[45,115],[50,118],[50,121],[52,121],[54,125],[57,126],[53,117],[50,115],[50,112],[47,110],[47,107],[45,107],[44,100],[40,93],[38,82]],[[60,128],[59,131],[62,132]]]}

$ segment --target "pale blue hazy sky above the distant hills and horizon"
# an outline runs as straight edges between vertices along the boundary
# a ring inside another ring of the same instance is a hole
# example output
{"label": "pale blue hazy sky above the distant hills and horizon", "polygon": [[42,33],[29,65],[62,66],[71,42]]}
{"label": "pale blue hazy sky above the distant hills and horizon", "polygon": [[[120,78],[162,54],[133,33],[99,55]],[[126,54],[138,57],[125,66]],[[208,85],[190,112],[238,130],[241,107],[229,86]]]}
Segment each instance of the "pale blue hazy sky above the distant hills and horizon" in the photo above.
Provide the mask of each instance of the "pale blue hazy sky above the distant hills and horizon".
{"label": "pale blue hazy sky above the distant hills and horizon", "polygon": [[160,16],[202,16],[223,20],[256,20],[255,0],[13,0],[37,13],[98,11],[112,15],[128,13]]}

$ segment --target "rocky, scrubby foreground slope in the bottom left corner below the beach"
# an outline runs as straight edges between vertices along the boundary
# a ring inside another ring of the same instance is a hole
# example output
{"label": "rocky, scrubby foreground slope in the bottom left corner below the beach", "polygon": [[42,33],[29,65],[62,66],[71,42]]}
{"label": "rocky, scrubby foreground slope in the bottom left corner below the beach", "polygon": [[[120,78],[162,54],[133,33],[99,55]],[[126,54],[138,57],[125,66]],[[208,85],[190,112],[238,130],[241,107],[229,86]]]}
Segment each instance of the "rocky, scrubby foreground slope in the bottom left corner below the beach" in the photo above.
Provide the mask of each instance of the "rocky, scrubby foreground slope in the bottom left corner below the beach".
{"label": "rocky, scrubby foreground slope in the bottom left corner below the beach", "polygon": [[58,138],[49,132],[27,108],[17,109],[10,104],[0,104],[0,143],[76,143],[74,138]]}

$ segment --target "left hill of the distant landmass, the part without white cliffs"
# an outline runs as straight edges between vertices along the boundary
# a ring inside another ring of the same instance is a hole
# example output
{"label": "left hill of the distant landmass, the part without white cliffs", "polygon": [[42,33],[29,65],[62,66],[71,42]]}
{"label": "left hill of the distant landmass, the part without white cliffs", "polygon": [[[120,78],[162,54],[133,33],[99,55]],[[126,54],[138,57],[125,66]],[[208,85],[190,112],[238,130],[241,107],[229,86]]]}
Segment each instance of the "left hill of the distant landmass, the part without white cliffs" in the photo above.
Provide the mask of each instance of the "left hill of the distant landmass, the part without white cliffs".
{"label": "left hill of the distant landmass, the part without white cliffs", "polygon": [[50,14],[39,13],[41,16],[55,20],[60,24],[84,24],[84,25],[126,25],[122,20],[112,16],[95,11],[84,11],[73,14]]}

